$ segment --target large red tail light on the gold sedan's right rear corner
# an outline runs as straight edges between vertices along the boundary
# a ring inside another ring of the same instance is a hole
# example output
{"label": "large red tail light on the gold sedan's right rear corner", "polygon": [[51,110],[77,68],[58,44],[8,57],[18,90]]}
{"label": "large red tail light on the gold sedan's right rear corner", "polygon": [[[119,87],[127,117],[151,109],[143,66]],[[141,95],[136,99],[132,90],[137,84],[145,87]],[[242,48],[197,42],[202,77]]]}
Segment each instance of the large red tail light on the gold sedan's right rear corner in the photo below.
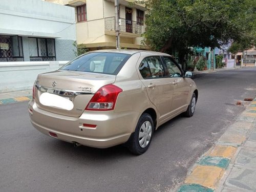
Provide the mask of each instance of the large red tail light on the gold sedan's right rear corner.
{"label": "large red tail light on the gold sedan's right rear corner", "polygon": [[101,87],[92,97],[86,110],[109,111],[115,108],[116,99],[123,90],[114,84],[107,84]]}

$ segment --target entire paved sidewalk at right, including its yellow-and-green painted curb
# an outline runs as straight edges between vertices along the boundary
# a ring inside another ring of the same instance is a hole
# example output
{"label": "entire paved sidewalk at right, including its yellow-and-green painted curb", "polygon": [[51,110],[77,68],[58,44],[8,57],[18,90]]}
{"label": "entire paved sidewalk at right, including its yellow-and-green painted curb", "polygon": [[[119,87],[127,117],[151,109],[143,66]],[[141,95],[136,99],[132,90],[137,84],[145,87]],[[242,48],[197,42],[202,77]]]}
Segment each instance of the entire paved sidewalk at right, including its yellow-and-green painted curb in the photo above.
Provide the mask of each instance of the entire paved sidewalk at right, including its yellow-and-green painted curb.
{"label": "entire paved sidewalk at right, including its yellow-and-green painted curb", "polygon": [[178,192],[256,191],[256,98],[190,169]]}

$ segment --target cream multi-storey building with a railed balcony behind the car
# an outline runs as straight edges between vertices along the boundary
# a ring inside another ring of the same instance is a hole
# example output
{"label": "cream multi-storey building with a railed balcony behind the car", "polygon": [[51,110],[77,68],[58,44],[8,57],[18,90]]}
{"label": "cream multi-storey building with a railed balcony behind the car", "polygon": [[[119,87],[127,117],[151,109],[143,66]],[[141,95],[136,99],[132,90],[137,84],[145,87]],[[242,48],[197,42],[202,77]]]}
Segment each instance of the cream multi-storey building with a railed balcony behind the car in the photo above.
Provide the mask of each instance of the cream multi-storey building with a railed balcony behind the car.
{"label": "cream multi-storey building with a railed balcony behind the car", "polygon": [[[77,44],[90,51],[115,49],[114,0],[45,0],[75,8]],[[131,0],[119,0],[120,46],[126,49],[150,49],[141,45],[145,31],[144,5]]]}

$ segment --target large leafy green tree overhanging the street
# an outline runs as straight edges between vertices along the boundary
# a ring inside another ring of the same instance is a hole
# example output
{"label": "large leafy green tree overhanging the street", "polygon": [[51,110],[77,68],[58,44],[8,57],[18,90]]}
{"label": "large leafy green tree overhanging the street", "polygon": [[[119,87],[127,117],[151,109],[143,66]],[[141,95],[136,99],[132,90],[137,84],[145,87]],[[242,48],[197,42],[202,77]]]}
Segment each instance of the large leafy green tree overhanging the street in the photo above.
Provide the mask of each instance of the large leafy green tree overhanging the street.
{"label": "large leafy green tree overhanging the street", "polygon": [[251,44],[255,38],[252,32],[255,0],[139,2],[148,8],[145,15],[146,44],[156,51],[178,51],[181,62],[189,47],[220,48],[229,41],[241,42],[243,39],[248,39]]}

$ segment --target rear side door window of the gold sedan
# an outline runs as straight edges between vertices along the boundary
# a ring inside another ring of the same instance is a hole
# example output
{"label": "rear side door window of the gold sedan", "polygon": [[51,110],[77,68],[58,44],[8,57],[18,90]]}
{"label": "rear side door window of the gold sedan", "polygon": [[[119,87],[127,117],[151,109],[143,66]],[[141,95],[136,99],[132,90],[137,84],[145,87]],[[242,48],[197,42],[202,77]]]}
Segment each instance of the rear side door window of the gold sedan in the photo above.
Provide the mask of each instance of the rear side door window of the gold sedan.
{"label": "rear side door window of the gold sedan", "polygon": [[139,71],[143,78],[165,77],[163,64],[158,56],[144,58],[140,63]]}

